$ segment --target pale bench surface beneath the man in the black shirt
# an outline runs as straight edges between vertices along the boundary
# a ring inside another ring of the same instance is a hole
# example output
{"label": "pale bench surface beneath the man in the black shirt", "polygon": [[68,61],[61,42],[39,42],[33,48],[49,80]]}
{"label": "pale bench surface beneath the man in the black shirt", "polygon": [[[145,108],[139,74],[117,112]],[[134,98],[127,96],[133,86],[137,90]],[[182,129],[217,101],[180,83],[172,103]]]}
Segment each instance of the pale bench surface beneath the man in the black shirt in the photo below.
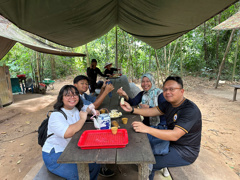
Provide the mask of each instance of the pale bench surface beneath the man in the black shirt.
{"label": "pale bench surface beneath the man in the black shirt", "polygon": [[197,160],[189,166],[168,168],[173,180],[239,179],[238,175],[219,156],[201,149]]}

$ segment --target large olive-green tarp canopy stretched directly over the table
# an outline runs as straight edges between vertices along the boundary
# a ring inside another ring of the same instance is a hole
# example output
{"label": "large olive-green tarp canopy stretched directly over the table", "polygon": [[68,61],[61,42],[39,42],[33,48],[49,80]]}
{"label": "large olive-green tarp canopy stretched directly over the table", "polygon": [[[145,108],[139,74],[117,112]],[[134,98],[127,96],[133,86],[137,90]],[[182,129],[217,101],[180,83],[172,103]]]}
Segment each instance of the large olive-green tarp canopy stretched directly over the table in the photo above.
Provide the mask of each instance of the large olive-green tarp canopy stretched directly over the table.
{"label": "large olive-green tarp canopy stretched directly over the table", "polygon": [[19,28],[77,47],[118,25],[161,48],[236,0],[0,0],[0,14]]}

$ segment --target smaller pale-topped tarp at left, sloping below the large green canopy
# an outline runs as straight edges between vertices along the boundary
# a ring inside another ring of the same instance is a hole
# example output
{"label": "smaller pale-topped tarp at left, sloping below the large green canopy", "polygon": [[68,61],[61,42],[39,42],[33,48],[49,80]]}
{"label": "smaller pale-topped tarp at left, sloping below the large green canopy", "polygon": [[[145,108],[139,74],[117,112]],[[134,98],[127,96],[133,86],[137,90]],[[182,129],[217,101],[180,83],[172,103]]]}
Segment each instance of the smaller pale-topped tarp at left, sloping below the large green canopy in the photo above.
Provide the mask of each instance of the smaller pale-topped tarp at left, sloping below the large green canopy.
{"label": "smaller pale-topped tarp at left, sloping below the large green canopy", "polygon": [[61,56],[85,56],[85,54],[66,51],[41,42],[36,36],[24,32],[7,19],[0,16],[0,60],[15,45],[16,42],[42,53]]}

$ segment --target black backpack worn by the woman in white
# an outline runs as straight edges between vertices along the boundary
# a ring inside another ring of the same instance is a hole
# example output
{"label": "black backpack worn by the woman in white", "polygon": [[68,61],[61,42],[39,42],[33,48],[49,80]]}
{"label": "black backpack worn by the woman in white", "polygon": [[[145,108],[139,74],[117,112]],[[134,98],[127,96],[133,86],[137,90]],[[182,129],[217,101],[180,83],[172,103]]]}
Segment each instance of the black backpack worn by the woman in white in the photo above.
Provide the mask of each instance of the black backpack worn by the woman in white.
{"label": "black backpack worn by the woman in white", "polygon": [[47,130],[48,130],[48,120],[49,120],[49,113],[50,112],[60,112],[63,114],[63,116],[66,118],[67,120],[67,115],[62,111],[62,110],[53,110],[53,111],[48,111],[47,113],[47,118],[43,120],[42,124],[38,127],[38,144],[43,147],[45,141],[47,140],[47,138],[49,138],[50,136],[53,135],[49,134],[47,135]]}

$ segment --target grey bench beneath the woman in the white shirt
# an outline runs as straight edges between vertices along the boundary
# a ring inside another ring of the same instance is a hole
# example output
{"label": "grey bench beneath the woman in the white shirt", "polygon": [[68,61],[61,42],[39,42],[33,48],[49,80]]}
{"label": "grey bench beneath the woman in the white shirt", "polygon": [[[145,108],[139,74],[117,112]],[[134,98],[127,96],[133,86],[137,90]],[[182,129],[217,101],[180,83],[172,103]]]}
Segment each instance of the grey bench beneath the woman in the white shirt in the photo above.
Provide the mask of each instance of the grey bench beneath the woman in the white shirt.
{"label": "grey bench beneath the woman in the white shirt", "polygon": [[51,173],[50,171],[48,171],[44,163],[33,180],[43,180],[43,179],[44,180],[65,180],[64,178],[57,176]]}

